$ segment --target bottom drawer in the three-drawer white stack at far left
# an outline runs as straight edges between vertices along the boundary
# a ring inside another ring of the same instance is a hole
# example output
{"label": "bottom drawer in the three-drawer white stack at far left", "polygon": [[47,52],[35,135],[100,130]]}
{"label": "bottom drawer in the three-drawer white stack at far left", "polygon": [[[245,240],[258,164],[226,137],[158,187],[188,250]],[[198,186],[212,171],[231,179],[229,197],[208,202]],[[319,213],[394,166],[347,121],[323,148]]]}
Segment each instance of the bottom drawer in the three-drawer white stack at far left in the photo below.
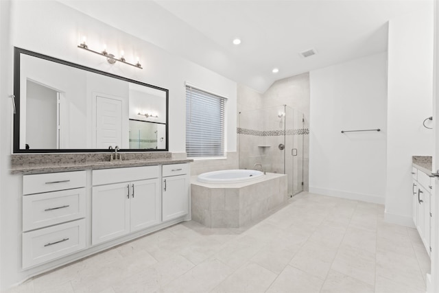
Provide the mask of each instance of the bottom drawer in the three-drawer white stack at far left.
{"label": "bottom drawer in the three-drawer white stack at far left", "polygon": [[23,233],[23,268],[85,248],[85,220]]}

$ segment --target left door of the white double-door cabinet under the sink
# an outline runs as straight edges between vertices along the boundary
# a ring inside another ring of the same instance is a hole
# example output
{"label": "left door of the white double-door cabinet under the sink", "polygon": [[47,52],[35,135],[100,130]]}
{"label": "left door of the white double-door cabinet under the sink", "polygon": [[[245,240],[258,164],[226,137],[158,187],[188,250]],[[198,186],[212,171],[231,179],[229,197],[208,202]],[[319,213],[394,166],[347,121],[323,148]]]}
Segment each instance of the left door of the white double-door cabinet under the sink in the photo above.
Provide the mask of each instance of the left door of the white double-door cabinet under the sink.
{"label": "left door of the white double-door cabinet under the sink", "polygon": [[130,232],[130,185],[117,183],[93,187],[92,244]]}

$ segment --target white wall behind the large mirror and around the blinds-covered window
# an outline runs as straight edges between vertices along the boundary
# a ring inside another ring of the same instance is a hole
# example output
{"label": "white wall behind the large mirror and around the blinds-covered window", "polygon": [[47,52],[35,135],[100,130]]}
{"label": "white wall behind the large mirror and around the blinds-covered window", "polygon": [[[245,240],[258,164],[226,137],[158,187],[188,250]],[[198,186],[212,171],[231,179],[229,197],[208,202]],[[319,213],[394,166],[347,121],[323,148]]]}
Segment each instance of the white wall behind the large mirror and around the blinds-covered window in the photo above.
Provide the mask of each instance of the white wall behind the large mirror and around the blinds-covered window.
{"label": "white wall behind the large mirror and around the blinds-covered window", "polygon": [[[12,47],[108,71],[126,78],[169,89],[169,151],[185,152],[185,82],[202,86],[228,97],[226,117],[226,150],[236,152],[237,84],[213,71],[171,55],[150,43],[116,30],[85,14],[55,1],[9,1],[1,3],[1,152],[0,152],[0,282],[1,288],[23,281],[36,270],[21,272],[21,176],[9,174],[12,151]],[[9,23],[11,19],[11,23]],[[9,34],[12,41],[8,42]],[[109,65],[106,59],[78,49],[86,35],[91,49],[116,54],[122,49],[128,61],[139,56],[143,69],[120,63]]]}

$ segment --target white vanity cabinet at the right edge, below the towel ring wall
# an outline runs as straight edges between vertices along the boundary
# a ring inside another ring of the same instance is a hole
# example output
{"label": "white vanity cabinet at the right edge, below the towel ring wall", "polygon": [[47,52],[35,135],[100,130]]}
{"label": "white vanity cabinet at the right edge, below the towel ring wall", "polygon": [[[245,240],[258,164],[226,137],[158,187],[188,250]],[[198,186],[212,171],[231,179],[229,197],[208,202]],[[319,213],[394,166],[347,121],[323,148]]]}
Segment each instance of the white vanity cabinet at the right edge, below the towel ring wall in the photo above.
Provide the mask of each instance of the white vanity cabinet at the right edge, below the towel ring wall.
{"label": "white vanity cabinet at the right edge, below the towel ring wall", "polygon": [[427,253],[431,253],[431,194],[433,193],[432,178],[419,169],[414,168],[413,182],[413,218],[420,239]]}

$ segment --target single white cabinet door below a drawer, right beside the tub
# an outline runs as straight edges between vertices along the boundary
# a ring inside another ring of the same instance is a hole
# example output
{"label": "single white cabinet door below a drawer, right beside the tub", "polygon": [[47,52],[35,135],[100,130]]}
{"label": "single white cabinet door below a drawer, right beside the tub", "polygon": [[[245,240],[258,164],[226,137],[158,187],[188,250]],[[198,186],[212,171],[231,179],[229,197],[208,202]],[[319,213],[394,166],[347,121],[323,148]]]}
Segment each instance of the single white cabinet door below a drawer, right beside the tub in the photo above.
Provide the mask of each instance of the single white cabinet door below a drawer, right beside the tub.
{"label": "single white cabinet door below a drawer, right beside the tub", "polygon": [[163,221],[172,220],[189,211],[187,175],[163,178]]}

